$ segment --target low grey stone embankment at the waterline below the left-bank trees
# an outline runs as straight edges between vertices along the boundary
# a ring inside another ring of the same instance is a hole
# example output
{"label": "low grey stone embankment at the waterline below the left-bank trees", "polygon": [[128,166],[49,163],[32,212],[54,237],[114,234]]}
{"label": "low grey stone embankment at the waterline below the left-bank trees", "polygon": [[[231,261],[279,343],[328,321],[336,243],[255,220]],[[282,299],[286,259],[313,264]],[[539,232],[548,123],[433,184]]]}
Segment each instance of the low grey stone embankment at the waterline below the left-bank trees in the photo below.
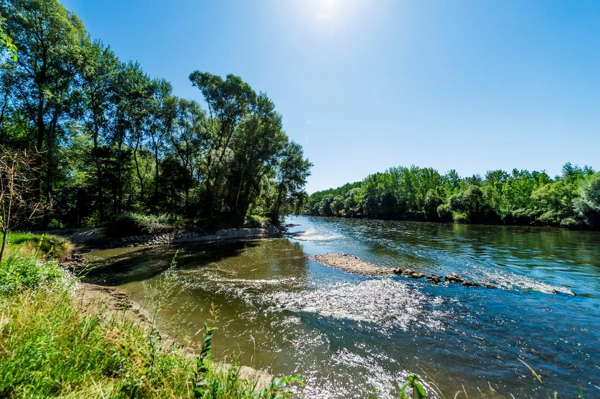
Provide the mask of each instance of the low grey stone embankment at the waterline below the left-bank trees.
{"label": "low grey stone embankment at the waterline below the left-bank trees", "polygon": [[170,232],[158,235],[132,235],[116,240],[116,246],[162,245],[221,240],[241,240],[254,238],[281,237],[283,232],[277,226],[265,228],[222,229],[211,233],[202,231]]}

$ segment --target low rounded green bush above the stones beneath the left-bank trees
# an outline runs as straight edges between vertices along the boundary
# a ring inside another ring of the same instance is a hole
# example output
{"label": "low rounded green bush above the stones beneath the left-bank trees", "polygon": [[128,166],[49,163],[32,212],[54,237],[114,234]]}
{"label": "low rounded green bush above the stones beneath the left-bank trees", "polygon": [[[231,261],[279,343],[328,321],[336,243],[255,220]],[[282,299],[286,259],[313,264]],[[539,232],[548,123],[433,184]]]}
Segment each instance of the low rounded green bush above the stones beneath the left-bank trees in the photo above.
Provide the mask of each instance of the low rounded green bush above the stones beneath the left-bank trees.
{"label": "low rounded green bush above the stones beneath the left-bank trees", "polygon": [[173,231],[175,218],[166,214],[153,215],[124,212],[109,224],[108,234],[113,237],[127,237],[137,234],[163,234]]}

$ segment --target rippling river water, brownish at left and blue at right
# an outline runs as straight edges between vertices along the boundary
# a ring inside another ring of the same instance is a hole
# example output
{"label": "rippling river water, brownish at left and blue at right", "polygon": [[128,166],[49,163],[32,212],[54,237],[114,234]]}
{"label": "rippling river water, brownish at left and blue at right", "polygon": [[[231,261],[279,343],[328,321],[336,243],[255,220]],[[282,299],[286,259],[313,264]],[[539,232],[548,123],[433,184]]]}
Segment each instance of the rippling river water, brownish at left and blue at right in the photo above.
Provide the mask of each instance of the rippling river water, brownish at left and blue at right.
{"label": "rippling river water, brownish at left and blue at right", "polygon": [[[211,320],[217,356],[235,351],[244,364],[302,374],[305,397],[395,397],[410,373],[447,397],[462,385],[469,397],[481,397],[478,389],[487,398],[600,397],[599,232],[303,216],[287,223],[297,225],[285,238],[94,252],[100,267],[86,279],[147,306],[162,292],[160,320],[170,331],[200,341]],[[455,271],[501,288],[355,276],[307,258],[327,252]]]}

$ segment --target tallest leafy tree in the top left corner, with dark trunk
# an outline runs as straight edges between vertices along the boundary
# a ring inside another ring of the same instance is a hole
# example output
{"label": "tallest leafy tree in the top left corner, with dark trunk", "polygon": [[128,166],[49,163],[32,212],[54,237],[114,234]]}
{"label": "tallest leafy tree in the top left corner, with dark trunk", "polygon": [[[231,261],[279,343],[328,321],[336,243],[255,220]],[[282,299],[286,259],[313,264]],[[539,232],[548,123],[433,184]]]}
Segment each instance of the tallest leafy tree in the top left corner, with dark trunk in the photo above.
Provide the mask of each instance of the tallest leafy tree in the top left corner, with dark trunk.
{"label": "tallest leafy tree in the top left corner, with dark trunk", "polygon": [[56,136],[70,108],[86,32],[81,21],[58,0],[11,0],[4,1],[3,6],[7,34],[19,48],[14,72],[16,102],[35,126],[35,151],[44,150],[46,197],[51,202]]}

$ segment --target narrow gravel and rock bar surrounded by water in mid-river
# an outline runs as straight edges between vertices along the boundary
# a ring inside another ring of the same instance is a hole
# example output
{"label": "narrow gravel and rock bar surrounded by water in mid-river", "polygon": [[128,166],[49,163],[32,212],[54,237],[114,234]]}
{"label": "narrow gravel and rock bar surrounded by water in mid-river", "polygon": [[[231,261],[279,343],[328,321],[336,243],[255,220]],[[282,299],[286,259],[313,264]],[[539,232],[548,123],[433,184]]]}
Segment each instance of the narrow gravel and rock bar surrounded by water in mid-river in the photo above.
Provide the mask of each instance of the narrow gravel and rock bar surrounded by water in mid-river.
{"label": "narrow gravel and rock bar surrounded by water in mid-river", "polygon": [[337,269],[347,271],[348,273],[361,274],[362,276],[388,276],[389,274],[395,274],[396,276],[410,277],[411,279],[425,279],[432,283],[440,283],[442,281],[448,283],[458,283],[465,287],[479,287],[484,286],[485,288],[497,288],[490,284],[479,284],[476,282],[469,281],[464,277],[458,276],[454,271],[446,276],[439,276],[437,274],[425,274],[419,271],[413,271],[405,267],[384,267],[370,262],[365,262],[356,256],[349,255],[348,253],[325,253],[324,255],[312,256],[312,259],[319,262],[322,265],[335,267]]}

